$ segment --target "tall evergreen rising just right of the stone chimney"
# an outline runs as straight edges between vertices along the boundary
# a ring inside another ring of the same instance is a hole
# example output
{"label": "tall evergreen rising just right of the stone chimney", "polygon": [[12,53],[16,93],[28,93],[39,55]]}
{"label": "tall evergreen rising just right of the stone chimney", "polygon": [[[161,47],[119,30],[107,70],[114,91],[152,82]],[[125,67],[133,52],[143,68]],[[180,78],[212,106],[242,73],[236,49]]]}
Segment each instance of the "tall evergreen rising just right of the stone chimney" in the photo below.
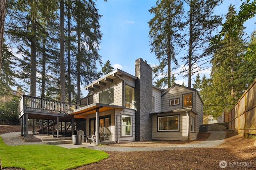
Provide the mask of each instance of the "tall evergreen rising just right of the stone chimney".
{"label": "tall evergreen rising just right of the stone chimney", "polygon": [[[178,32],[184,26],[182,22],[183,7],[180,0],[158,0],[156,6],[149,10],[154,17],[148,22],[150,27],[149,38],[151,53],[155,53],[160,62],[153,68],[156,80],[156,86],[171,86],[171,70],[176,68],[178,61],[175,50],[180,43],[180,33]],[[171,63],[174,63],[171,68]],[[166,71],[167,66],[167,71]]]}

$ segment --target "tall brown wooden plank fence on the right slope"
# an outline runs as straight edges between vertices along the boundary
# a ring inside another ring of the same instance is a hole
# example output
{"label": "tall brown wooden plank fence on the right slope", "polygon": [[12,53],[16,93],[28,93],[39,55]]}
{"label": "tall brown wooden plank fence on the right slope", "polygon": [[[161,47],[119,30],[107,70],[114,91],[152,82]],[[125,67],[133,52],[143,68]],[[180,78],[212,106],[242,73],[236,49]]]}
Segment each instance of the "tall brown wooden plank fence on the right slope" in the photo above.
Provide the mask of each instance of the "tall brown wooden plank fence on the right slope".
{"label": "tall brown wooden plank fence on the right slope", "polygon": [[222,113],[228,129],[256,135],[256,79],[229,113]]}

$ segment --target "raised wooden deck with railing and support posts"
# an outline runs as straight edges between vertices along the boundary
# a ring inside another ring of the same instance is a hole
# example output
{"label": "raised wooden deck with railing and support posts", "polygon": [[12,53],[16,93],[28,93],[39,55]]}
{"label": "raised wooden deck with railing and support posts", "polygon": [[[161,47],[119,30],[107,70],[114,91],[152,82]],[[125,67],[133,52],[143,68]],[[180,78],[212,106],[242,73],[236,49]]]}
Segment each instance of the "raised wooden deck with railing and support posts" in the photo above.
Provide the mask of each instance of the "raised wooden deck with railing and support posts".
{"label": "raised wooden deck with railing and support posts", "polygon": [[[28,138],[28,119],[40,119],[47,120],[48,130],[52,127],[52,136],[54,137],[55,125],[59,125],[59,122],[70,122],[72,135],[74,134],[75,122],[83,121],[85,119],[74,118],[73,115],[68,115],[68,112],[80,109],[84,105],[60,102],[51,99],[38,98],[28,95],[22,95],[18,104],[19,118],[21,120],[21,135],[24,138]],[[49,121],[52,121],[52,125],[49,125]],[[56,121],[56,122],[55,122]],[[33,126],[34,126],[33,121]],[[44,127],[42,127],[44,129]],[[57,138],[59,137],[59,128],[56,128]],[[66,129],[65,129],[66,131]],[[49,131],[47,132],[49,133]]]}

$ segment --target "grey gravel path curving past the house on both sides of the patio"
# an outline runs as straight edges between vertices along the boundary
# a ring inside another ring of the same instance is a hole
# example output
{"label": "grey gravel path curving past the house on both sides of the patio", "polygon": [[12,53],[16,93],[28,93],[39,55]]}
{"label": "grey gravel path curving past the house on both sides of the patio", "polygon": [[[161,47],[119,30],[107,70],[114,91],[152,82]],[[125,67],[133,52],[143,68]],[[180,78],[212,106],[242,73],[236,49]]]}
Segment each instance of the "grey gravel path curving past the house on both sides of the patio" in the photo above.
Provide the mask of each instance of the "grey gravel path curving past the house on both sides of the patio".
{"label": "grey gravel path curving past the house on both sides of the patio", "polygon": [[[32,133],[32,132],[29,132]],[[207,141],[199,143],[191,143],[186,145],[176,145],[170,147],[118,147],[113,145],[102,145],[89,147],[90,149],[103,150],[103,151],[118,151],[118,152],[130,152],[130,151],[151,151],[151,150],[176,150],[176,149],[191,149],[191,148],[210,148],[216,147],[224,142],[225,131],[210,131],[211,135]],[[20,132],[4,133],[2,139],[6,145],[33,145],[44,144],[44,142],[24,142],[20,138]]]}

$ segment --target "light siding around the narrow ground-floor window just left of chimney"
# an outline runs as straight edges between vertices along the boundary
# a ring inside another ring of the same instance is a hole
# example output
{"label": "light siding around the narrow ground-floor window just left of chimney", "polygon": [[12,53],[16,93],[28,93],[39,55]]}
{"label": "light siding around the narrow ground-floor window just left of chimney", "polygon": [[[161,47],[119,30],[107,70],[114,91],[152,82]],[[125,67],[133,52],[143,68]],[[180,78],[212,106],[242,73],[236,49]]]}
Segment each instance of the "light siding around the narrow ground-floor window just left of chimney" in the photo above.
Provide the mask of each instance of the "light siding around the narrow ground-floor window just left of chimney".
{"label": "light siding around the narrow ground-floor window just left of chimney", "polygon": [[[132,116],[132,136],[130,137],[121,137],[121,115],[119,115],[120,113],[124,114],[124,115],[131,115]],[[115,141],[120,143],[123,142],[131,142],[131,141],[135,141],[135,110],[133,109],[124,109],[124,112],[120,109],[116,109],[115,111]],[[118,138],[117,138],[118,135]]]}

